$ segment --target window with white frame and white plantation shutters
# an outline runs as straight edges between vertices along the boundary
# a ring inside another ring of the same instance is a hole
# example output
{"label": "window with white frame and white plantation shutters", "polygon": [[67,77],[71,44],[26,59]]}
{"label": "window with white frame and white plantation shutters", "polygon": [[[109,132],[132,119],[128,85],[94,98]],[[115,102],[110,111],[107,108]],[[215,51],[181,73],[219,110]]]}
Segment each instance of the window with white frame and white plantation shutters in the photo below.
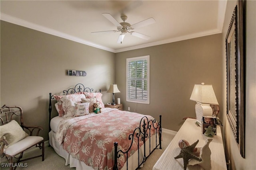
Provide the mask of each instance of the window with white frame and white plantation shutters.
{"label": "window with white frame and white plantation shutters", "polygon": [[126,59],[126,101],[149,104],[149,55]]}

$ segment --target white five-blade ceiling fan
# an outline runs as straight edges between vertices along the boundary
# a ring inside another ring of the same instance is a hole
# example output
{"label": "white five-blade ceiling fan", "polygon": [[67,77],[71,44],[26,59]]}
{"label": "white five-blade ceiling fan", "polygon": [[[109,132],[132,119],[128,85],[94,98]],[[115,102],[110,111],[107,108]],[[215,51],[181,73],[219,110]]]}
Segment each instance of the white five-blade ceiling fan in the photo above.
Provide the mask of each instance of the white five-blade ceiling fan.
{"label": "white five-blade ceiling fan", "polygon": [[155,23],[156,21],[154,20],[154,18],[148,18],[144,21],[140,21],[138,23],[135,23],[133,25],[131,25],[130,23],[126,22],[127,20],[127,16],[123,15],[121,16],[121,19],[123,20],[123,22],[118,22],[114,17],[112,17],[110,14],[108,13],[103,13],[102,14],[104,17],[106,17],[110,22],[114,23],[114,25],[116,25],[117,30],[110,30],[110,31],[98,31],[98,32],[92,32],[92,33],[100,33],[100,32],[121,32],[121,34],[118,37],[117,43],[122,43],[124,36],[126,35],[126,33],[130,33],[133,36],[136,37],[140,37],[142,39],[150,39],[150,36],[148,35],[144,35],[142,33],[138,33],[133,31],[136,28],[139,27],[144,27],[146,25],[150,25],[152,23]]}

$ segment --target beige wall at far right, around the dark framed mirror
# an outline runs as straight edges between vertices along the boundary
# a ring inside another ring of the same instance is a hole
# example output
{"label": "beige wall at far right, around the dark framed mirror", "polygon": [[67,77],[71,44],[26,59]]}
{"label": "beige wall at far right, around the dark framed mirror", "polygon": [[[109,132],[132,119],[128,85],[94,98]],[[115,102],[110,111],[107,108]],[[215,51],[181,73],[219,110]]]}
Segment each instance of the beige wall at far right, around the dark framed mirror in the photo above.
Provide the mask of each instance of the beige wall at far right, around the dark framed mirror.
{"label": "beige wall at far right, around the dark framed mirror", "polygon": [[[228,1],[224,21],[222,41],[225,41],[228,26],[236,6],[236,1]],[[245,82],[245,159],[240,156],[236,141],[228,124],[227,118],[223,121],[225,133],[226,159],[230,160],[233,170],[256,169],[256,1],[246,1],[246,82]],[[223,44],[225,49],[225,44]],[[222,89],[226,91],[226,54],[222,51]],[[226,93],[222,94],[223,107],[226,110]]]}

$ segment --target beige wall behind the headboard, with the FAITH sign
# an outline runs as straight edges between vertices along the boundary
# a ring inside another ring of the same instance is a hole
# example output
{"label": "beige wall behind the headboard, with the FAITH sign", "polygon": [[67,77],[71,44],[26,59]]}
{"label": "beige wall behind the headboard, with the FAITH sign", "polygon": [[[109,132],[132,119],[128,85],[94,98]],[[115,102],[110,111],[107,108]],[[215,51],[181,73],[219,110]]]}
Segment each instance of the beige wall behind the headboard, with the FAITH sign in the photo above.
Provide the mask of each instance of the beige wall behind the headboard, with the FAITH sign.
{"label": "beige wall behind the headboard, with the FAITH sign", "polygon": [[[114,82],[114,53],[1,21],[1,100],[22,107],[24,123],[40,125],[48,140],[49,92],[60,93],[77,83],[101,89],[103,101]],[[85,70],[87,76],[67,76]]]}

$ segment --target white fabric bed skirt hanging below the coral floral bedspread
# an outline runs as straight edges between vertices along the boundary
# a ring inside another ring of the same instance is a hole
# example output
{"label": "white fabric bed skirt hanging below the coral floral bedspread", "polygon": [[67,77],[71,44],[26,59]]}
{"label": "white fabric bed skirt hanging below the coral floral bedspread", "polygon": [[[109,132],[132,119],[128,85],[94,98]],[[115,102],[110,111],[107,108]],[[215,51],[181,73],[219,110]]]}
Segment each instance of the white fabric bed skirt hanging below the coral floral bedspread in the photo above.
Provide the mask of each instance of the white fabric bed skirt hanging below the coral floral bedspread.
{"label": "white fabric bed skirt hanging below the coral floral bedspread", "polygon": [[[157,134],[150,137],[151,138],[150,139],[150,141],[151,141],[150,145],[149,145],[149,140],[146,141],[146,156],[149,154],[149,146],[151,148],[151,151],[156,146],[156,135]],[[157,143],[159,143],[158,140],[159,140],[159,137],[157,137]],[[55,152],[66,160],[66,163],[65,163],[66,166],[69,165],[71,168],[75,167],[76,170],[94,170],[91,166],[86,165],[84,162],[79,161],[76,158],[72,158],[72,156],[70,156],[70,154],[68,154],[68,152],[66,152],[66,150],[64,150],[62,148],[62,146],[60,146],[58,144],[58,142],[55,141],[55,132],[54,131],[49,132],[49,143],[50,143],[50,146],[53,147]],[[144,145],[142,145],[142,147],[140,147],[140,149],[139,149],[140,163],[142,162],[142,159],[143,159],[143,156],[144,156],[144,149],[142,149],[143,147],[144,147]],[[134,170],[138,167],[138,150],[136,152],[134,152],[134,154],[132,154],[132,156],[130,156],[128,158],[128,162],[129,162],[128,163],[128,170]],[[126,166],[126,163],[125,163],[124,167],[121,170],[127,170],[126,167],[127,166]]]}

